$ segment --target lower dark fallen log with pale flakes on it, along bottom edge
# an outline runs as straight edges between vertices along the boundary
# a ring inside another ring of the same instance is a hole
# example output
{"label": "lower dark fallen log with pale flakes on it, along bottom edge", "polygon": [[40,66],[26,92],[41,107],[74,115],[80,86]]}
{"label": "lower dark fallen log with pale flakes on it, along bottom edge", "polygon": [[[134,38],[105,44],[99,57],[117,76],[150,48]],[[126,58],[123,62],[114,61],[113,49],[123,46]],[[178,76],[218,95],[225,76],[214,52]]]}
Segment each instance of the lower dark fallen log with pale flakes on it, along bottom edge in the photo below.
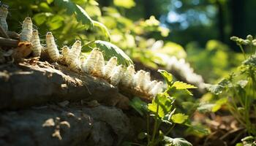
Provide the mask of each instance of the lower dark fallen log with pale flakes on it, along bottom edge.
{"label": "lower dark fallen log with pale flakes on it, along bottom edge", "polygon": [[0,145],[121,145],[133,137],[129,118],[115,107],[50,104],[2,111]]}

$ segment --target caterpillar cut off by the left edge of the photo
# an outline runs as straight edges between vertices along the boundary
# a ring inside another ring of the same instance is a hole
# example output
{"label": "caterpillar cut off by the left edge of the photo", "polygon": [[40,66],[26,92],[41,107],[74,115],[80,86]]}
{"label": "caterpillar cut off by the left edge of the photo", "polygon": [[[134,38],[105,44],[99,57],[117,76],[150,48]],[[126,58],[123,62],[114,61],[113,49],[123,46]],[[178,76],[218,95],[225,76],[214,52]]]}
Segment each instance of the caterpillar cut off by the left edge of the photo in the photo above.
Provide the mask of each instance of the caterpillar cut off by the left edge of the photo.
{"label": "caterpillar cut off by the left edge of the photo", "polygon": [[6,32],[8,31],[7,15],[8,15],[8,6],[5,4],[0,4],[0,25]]}

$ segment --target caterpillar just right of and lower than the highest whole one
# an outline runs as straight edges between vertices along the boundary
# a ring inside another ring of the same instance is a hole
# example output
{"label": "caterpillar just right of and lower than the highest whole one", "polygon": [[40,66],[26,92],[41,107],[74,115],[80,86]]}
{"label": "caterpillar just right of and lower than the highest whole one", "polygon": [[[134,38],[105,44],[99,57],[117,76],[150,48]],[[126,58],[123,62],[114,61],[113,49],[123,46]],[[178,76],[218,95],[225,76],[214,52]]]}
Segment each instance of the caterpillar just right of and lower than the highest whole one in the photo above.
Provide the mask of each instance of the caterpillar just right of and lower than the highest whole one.
{"label": "caterpillar just right of and lower than the highest whole one", "polygon": [[34,30],[31,37],[31,43],[32,43],[32,51],[34,57],[39,57],[41,55],[42,51],[42,45],[40,44],[40,39],[38,36],[38,31]]}

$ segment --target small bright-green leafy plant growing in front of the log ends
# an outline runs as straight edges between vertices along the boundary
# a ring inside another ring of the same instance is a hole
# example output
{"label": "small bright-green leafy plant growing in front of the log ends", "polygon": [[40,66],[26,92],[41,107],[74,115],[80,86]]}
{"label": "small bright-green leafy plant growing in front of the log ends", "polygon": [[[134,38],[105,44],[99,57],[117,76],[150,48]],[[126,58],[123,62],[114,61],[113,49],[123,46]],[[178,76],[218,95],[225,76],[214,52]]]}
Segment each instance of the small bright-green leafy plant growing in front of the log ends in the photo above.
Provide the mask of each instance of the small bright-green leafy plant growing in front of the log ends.
{"label": "small bright-green leafy plant growing in front of the log ends", "polygon": [[[147,139],[147,146],[154,145],[170,145],[170,146],[191,146],[190,142],[187,142],[183,138],[171,138],[168,134],[172,131],[176,123],[184,123],[188,119],[188,115],[183,113],[175,113],[176,108],[173,107],[175,99],[170,96],[170,92],[175,90],[184,90],[189,94],[192,94],[188,89],[196,88],[194,85],[189,85],[185,82],[173,81],[173,76],[164,70],[159,70],[162,76],[165,78],[167,89],[163,93],[157,94],[151,103],[146,104],[138,98],[131,101],[131,106],[137,110],[140,115],[145,113],[147,119],[147,131],[138,135],[138,139]],[[153,129],[150,127],[150,117],[154,119]],[[166,123],[169,127],[161,130],[162,123]],[[132,143],[132,145],[140,145]]]}

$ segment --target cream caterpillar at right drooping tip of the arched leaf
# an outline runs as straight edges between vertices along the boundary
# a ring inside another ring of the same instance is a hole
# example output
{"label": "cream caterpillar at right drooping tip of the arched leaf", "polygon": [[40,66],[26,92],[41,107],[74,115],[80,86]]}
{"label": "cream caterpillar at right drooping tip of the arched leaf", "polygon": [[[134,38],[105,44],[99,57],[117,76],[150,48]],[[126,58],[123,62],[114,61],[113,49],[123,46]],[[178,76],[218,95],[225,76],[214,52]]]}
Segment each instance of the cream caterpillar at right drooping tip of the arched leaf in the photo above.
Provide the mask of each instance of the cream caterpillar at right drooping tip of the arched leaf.
{"label": "cream caterpillar at right drooping tip of the arched leaf", "polygon": [[135,66],[129,65],[124,72],[124,77],[121,78],[121,84],[126,87],[132,87],[132,79],[135,75]]}

